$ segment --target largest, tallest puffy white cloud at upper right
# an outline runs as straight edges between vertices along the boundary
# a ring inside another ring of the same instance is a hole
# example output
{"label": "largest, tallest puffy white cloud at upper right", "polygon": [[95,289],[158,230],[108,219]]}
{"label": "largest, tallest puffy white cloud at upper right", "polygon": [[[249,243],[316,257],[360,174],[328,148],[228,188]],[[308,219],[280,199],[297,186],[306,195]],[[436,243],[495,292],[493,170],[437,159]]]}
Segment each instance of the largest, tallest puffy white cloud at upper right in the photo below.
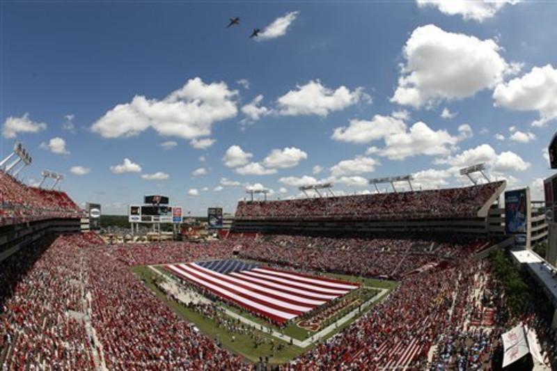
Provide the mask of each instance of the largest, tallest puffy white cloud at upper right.
{"label": "largest, tallest puffy white cloud at upper right", "polygon": [[499,55],[500,49],[491,39],[420,26],[403,49],[406,64],[391,102],[419,108],[492,88],[516,69]]}

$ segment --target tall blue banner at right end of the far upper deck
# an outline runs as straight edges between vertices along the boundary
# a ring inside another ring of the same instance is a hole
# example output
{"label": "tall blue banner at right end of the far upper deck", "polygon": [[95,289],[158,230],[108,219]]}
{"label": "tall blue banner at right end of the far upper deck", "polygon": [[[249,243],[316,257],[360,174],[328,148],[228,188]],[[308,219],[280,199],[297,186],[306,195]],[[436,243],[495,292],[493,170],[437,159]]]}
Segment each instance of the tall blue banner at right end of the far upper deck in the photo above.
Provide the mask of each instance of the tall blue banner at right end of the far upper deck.
{"label": "tall blue banner at right end of the far upper deck", "polygon": [[517,246],[528,246],[530,192],[528,188],[505,192],[505,232],[515,235]]}

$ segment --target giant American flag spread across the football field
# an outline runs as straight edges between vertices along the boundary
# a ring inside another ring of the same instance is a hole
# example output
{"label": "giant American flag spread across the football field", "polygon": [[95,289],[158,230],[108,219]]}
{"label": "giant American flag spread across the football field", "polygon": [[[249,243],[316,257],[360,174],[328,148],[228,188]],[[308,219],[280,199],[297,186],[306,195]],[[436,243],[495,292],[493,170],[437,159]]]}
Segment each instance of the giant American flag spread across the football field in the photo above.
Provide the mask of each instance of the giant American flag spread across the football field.
{"label": "giant American flag spread across the football field", "polygon": [[359,287],[357,283],[258,267],[239,260],[191,262],[165,268],[278,324]]}

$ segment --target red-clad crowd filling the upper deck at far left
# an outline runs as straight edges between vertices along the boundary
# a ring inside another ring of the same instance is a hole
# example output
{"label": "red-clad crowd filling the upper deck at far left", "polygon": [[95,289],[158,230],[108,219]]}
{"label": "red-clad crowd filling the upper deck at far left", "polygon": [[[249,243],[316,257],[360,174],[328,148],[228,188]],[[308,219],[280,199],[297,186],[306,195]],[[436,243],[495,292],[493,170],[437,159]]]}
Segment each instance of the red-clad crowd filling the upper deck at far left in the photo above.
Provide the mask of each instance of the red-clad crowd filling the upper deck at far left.
{"label": "red-clad crowd filling the upper deck at far left", "polygon": [[29,187],[0,170],[0,226],[82,214],[65,192]]}

